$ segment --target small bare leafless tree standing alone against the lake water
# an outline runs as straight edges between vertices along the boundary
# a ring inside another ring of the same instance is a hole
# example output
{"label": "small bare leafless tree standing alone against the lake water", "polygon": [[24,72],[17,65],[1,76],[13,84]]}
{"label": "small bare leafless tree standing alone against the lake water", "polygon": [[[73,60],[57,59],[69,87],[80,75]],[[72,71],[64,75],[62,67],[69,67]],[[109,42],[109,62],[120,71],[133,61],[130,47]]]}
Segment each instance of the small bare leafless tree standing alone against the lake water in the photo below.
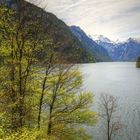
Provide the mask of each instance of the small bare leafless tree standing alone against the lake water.
{"label": "small bare leafless tree standing alone against the lake water", "polygon": [[113,140],[123,126],[117,116],[117,98],[101,95],[100,117],[105,122],[106,139]]}

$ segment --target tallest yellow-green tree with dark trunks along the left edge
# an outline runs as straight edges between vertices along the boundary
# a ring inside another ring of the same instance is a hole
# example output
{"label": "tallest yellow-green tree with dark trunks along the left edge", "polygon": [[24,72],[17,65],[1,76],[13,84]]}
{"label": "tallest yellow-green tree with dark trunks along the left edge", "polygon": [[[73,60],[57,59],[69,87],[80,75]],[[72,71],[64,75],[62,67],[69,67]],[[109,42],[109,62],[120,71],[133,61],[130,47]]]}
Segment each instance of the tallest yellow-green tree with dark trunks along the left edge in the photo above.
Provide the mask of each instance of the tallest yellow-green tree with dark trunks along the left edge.
{"label": "tallest yellow-green tree with dark trunks along the left edge", "polygon": [[[29,9],[25,11],[26,5],[22,5],[22,1],[18,2],[16,9],[0,7],[0,69],[5,74],[0,77],[1,94],[2,101],[9,103],[4,110],[8,114],[7,120],[15,129],[27,125],[27,117],[29,118],[29,114],[31,116],[33,110],[29,99],[32,98],[33,101],[35,97],[32,96],[36,92],[33,85],[36,84],[35,66],[40,59],[38,53],[42,48],[43,34],[40,27],[41,17],[33,22],[29,18]],[[28,104],[30,108],[27,107]]]}

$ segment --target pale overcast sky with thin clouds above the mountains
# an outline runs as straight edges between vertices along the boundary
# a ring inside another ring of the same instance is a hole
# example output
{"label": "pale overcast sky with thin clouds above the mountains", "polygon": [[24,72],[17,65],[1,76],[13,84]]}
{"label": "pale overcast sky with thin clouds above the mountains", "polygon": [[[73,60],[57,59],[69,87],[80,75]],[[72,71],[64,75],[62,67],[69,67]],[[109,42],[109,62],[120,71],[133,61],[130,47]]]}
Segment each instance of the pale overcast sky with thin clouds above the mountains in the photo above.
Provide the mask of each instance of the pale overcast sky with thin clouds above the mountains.
{"label": "pale overcast sky with thin clouds above the mountains", "polygon": [[140,0],[42,0],[42,6],[90,35],[140,37]]}

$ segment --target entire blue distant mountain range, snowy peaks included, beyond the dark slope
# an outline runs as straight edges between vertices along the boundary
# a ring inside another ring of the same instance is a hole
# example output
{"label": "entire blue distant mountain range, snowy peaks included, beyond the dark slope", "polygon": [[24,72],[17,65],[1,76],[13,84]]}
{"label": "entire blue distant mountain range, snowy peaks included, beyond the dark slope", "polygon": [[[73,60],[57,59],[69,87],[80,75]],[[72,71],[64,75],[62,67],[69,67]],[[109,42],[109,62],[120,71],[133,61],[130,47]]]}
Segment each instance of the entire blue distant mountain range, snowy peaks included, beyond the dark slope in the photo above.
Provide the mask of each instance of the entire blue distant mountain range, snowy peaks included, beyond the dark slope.
{"label": "entire blue distant mountain range, snowy peaks included, beyond the dark slope", "polygon": [[103,35],[88,36],[77,26],[70,29],[96,61],[136,61],[140,56],[140,40],[129,38],[125,42],[113,42]]}

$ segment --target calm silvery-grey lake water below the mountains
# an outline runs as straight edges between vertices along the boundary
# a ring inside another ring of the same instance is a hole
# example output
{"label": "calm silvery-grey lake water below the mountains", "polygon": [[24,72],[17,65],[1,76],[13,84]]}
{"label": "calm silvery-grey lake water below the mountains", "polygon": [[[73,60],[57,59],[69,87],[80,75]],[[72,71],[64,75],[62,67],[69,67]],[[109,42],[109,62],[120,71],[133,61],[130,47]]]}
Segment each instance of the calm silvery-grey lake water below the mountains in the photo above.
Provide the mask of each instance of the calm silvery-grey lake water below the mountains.
{"label": "calm silvery-grey lake water below the mountains", "polygon": [[[118,114],[124,124],[117,140],[140,140],[140,69],[133,62],[83,64],[84,88],[95,95],[93,109],[97,112],[101,94],[118,98]],[[90,129],[94,140],[105,140],[100,120]]]}

